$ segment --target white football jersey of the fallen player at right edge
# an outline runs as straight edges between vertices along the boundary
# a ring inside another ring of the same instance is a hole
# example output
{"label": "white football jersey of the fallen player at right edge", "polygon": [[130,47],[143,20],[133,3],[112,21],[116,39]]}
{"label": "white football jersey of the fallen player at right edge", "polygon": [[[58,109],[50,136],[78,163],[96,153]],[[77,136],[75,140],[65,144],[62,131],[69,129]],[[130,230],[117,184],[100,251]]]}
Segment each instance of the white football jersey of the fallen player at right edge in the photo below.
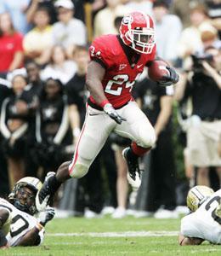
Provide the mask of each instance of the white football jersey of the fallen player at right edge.
{"label": "white football jersey of the fallen player at right edge", "polygon": [[221,189],[212,194],[195,212],[181,219],[181,234],[221,244],[221,218],[215,214],[220,203]]}

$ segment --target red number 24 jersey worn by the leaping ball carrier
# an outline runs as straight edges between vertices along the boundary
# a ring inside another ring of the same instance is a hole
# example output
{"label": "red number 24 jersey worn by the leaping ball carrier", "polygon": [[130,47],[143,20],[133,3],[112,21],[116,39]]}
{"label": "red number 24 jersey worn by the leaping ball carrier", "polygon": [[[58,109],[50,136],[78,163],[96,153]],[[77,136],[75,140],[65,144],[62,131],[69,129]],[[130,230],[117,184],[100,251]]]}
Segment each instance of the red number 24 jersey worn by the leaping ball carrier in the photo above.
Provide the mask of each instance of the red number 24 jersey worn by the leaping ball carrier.
{"label": "red number 24 jersey worn by the leaping ball carrier", "polygon": [[[89,48],[91,60],[105,67],[102,85],[106,98],[114,108],[121,108],[132,99],[131,90],[135,80],[144,71],[147,62],[153,61],[156,55],[156,46],[151,54],[136,54],[135,50],[130,50],[138,57],[133,61],[133,56],[127,55],[126,48],[119,36],[111,34],[96,38]],[[95,103],[92,96],[89,100]]]}

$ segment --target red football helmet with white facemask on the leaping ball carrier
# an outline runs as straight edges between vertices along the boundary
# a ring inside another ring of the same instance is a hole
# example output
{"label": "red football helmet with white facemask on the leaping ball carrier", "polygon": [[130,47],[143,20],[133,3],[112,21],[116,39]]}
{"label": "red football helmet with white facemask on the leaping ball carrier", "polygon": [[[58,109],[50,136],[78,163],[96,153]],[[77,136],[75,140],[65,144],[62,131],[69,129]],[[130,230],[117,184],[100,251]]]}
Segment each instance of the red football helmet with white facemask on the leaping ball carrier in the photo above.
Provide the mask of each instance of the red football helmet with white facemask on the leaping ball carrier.
{"label": "red football helmet with white facemask on the leaping ball carrier", "polygon": [[140,53],[150,54],[155,46],[154,22],[139,11],[122,18],[120,35],[124,44]]}

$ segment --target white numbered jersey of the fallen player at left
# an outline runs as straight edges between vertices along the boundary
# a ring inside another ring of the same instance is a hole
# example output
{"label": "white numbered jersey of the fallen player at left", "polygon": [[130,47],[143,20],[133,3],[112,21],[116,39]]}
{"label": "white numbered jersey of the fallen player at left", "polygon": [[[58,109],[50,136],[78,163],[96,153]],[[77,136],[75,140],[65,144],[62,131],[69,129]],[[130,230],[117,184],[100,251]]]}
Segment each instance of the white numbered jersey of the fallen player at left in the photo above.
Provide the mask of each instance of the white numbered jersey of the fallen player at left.
{"label": "white numbered jersey of the fallen player at left", "polygon": [[[31,230],[37,223],[37,218],[31,216],[26,212],[22,212],[16,207],[14,207],[11,203],[0,198],[0,208],[4,208],[8,210],[11,218],[10,230],[6,236],[8,240],[8,244],[11,247],[15,247],[20,238]],[[41,238],[41,243],[43,241],[44,229],[39,232],[39,236]]]}

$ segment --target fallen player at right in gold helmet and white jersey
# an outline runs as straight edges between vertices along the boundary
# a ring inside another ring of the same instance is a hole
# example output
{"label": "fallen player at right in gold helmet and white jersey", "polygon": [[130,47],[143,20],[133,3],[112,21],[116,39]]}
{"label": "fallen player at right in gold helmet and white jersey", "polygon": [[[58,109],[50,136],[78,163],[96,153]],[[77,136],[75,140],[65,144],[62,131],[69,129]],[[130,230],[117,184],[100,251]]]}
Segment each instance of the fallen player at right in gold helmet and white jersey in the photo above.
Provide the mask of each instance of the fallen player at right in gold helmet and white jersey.
{"label": "fallen player at right in gold helmet and white jersey", "polygon": [[221,244],[221,189],[195,186],[187,195],[191,213],[181,219],[180,245]]}

